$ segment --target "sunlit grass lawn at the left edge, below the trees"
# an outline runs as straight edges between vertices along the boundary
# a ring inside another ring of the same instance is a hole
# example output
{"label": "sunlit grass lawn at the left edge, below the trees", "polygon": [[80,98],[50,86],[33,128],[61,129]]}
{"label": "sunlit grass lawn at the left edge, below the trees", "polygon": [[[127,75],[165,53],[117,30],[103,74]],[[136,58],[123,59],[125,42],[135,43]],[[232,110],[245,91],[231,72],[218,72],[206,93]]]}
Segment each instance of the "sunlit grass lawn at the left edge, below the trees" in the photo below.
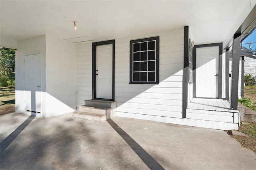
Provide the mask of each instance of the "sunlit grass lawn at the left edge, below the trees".
{"label": "sunlit grass lawn at the left edge, below the trees", "polygon": [[15,112],[15,87],[0,87],[0,115]]}

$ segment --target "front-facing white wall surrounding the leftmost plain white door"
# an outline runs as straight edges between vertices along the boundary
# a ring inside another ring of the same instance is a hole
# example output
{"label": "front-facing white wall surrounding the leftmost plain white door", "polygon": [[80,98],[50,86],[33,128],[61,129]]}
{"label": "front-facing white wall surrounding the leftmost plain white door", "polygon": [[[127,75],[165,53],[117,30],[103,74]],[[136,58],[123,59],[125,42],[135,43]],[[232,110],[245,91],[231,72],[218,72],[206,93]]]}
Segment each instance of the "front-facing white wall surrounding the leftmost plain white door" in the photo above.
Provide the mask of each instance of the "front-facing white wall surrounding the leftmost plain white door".
{"label": "front-facing white wall surrounding the leftmost plain white door", "polygon": [[[34,37],[17,42],[18,50],[16,50],[15,57],[15,107],[16,112],[25,113],[25,55],[26,54],[41,54],[41,90],[46,90],[45,79],[45,61],[46,61],[46,45],[45,35],[40,37]],[[44,112],[44,104],[41,106],[42,112]]]}

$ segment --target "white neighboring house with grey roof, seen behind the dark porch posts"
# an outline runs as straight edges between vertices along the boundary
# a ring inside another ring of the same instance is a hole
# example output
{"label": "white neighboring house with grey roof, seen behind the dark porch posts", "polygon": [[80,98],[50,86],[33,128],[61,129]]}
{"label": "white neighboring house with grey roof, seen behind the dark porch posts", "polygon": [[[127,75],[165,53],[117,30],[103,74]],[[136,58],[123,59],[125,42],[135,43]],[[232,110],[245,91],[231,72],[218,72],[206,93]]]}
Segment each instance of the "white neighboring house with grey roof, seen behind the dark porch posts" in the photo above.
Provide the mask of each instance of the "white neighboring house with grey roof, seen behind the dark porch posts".
{"label": "white neighboring house with grey roof, seen behind the dark porch posts", "polygon": [[[252,57],[252,51],[251,50],[247,49],[246,47],[242,47],[242,48],[240,47],[238,98],[244,97],[244,75],[247,73],[246,70],[252,70],[252,68],[254,68],[256,66],[256,59],[254,59],[254,60],[250,59],[251,57]],[[230,74],[232,74],[232,70],[231,70],[232,50],[229,53],[229,65],[230,65],[229,72],[230,72]],[[254,74],[252,74],[252,75],[254,75]]]}

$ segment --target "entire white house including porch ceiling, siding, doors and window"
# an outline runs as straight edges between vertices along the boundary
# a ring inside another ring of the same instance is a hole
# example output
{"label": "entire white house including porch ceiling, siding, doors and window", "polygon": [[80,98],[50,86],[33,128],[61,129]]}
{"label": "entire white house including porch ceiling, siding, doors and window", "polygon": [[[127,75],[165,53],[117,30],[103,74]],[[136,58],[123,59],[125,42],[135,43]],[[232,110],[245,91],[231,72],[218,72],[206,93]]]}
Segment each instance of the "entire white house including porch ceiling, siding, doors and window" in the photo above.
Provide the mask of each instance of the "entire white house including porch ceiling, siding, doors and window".
{"label": "entire white house including porch ceiling, siding, doors and window", "polygon": [[120,117],[238,129],[236,65],[256,1],[0,3],[0,46],[17,49],[16,112],[51,117],[94,99]]}

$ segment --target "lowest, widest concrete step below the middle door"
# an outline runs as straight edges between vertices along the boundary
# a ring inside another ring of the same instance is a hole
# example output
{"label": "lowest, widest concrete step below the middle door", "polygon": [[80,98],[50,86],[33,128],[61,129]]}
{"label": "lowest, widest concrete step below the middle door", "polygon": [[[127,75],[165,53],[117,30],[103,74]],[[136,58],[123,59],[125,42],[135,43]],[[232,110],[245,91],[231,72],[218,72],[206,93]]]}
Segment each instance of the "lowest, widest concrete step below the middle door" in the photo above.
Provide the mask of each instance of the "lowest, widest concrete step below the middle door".
{"label": "lowest, widest concrete step below the middle door", "polygon": [[101,113],[90,113],[90,112],[85,112],[85,111],[74,111],[73,116],[78,118],[78,119],[84,119],[84,120],[90,120],[90,121],[106,121],[107,120],[107,115],[106,114],[101,114]]}

